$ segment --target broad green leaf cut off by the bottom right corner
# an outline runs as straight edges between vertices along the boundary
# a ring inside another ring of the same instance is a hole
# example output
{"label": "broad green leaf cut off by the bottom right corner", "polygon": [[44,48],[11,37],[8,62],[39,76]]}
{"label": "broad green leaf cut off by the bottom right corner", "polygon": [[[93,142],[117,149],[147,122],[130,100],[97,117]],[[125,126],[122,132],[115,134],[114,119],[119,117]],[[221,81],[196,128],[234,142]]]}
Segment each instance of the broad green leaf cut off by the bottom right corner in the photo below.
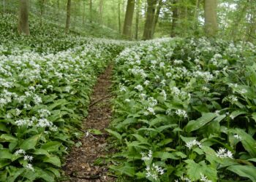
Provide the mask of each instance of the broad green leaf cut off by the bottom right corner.
{"label": "broad green leaf cut off by the bottom right corner", "polygon": [[232,165],[227,167],[227,170],[240,175],[241,177],[249,178],[252,181],[256,181],[256,167],[251,165]]}

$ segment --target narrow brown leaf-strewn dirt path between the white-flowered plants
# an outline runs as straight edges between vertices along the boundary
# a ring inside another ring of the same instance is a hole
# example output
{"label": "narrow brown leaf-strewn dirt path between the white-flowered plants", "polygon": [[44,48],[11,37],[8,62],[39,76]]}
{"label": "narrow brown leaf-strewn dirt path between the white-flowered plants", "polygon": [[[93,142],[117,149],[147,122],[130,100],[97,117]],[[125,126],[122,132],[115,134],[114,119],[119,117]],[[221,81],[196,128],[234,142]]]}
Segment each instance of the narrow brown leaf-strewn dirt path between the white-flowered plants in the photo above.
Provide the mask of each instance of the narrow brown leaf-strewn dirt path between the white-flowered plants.
{"label": "narrow brown leaf-strewn dirt path between the white-flowered plants", "polygon": [[82,146],[79,148],[74,146],[67,158],[67,165],[64,167],[65,173],[70,177],[69,181],[114,181],[114,178],[108,176],[106,165],[94,165],[97,158],[105,157],[109,153],[106,141],[108,134],[104,129],[108,127],[111,118],[111,72],[112,67],[110,66],[99,76],[91,96],[89,116],[83,124],[83,130],[97,129],[102,132],[102,135],[85,133],[80,141]]}

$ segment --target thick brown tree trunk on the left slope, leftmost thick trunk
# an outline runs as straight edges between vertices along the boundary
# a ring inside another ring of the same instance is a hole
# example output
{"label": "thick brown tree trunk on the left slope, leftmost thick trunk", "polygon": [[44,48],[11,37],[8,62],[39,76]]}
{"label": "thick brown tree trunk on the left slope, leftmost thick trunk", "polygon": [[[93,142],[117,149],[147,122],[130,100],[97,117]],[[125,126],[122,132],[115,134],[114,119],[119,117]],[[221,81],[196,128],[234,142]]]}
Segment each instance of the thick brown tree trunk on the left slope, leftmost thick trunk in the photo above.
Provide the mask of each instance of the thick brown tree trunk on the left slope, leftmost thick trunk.
{"label": "thick brown tree trunk on the left slope, leftmost thick trunk", "polygon": [[18,32],[29,36],[29,1],[20,0],[20,13],[18,18]]}

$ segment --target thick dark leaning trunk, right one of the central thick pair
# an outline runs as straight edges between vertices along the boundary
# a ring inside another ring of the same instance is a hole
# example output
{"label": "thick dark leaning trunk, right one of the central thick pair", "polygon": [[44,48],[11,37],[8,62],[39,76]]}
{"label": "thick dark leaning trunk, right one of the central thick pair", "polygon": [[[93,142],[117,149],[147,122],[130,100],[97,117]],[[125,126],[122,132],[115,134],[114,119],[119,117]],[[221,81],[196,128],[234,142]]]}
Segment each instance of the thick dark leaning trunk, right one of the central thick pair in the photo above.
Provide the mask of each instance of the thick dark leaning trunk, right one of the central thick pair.
{"label": "thick dark leaning trunk, right one of the central thick pair", "polygon": [[144,32],[143,32],[143,40],[152,39],[156,5],[157,5],[157,0],[148,0],[148,8],[146,12],[146,23],[145,23]]}

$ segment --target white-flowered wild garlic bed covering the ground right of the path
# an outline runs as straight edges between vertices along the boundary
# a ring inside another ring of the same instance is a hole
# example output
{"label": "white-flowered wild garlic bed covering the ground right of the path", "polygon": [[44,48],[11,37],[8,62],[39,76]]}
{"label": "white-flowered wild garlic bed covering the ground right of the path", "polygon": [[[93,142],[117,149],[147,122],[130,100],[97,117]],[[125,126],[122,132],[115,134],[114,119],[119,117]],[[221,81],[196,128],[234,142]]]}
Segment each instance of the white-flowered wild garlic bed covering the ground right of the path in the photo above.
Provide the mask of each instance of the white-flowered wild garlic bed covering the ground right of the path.
{"label": "white-flowered wild garlic bed covering the ground right of the path", "polygon": [[120,181],[256,181],[255,46],[162,39],[116,59]]}

